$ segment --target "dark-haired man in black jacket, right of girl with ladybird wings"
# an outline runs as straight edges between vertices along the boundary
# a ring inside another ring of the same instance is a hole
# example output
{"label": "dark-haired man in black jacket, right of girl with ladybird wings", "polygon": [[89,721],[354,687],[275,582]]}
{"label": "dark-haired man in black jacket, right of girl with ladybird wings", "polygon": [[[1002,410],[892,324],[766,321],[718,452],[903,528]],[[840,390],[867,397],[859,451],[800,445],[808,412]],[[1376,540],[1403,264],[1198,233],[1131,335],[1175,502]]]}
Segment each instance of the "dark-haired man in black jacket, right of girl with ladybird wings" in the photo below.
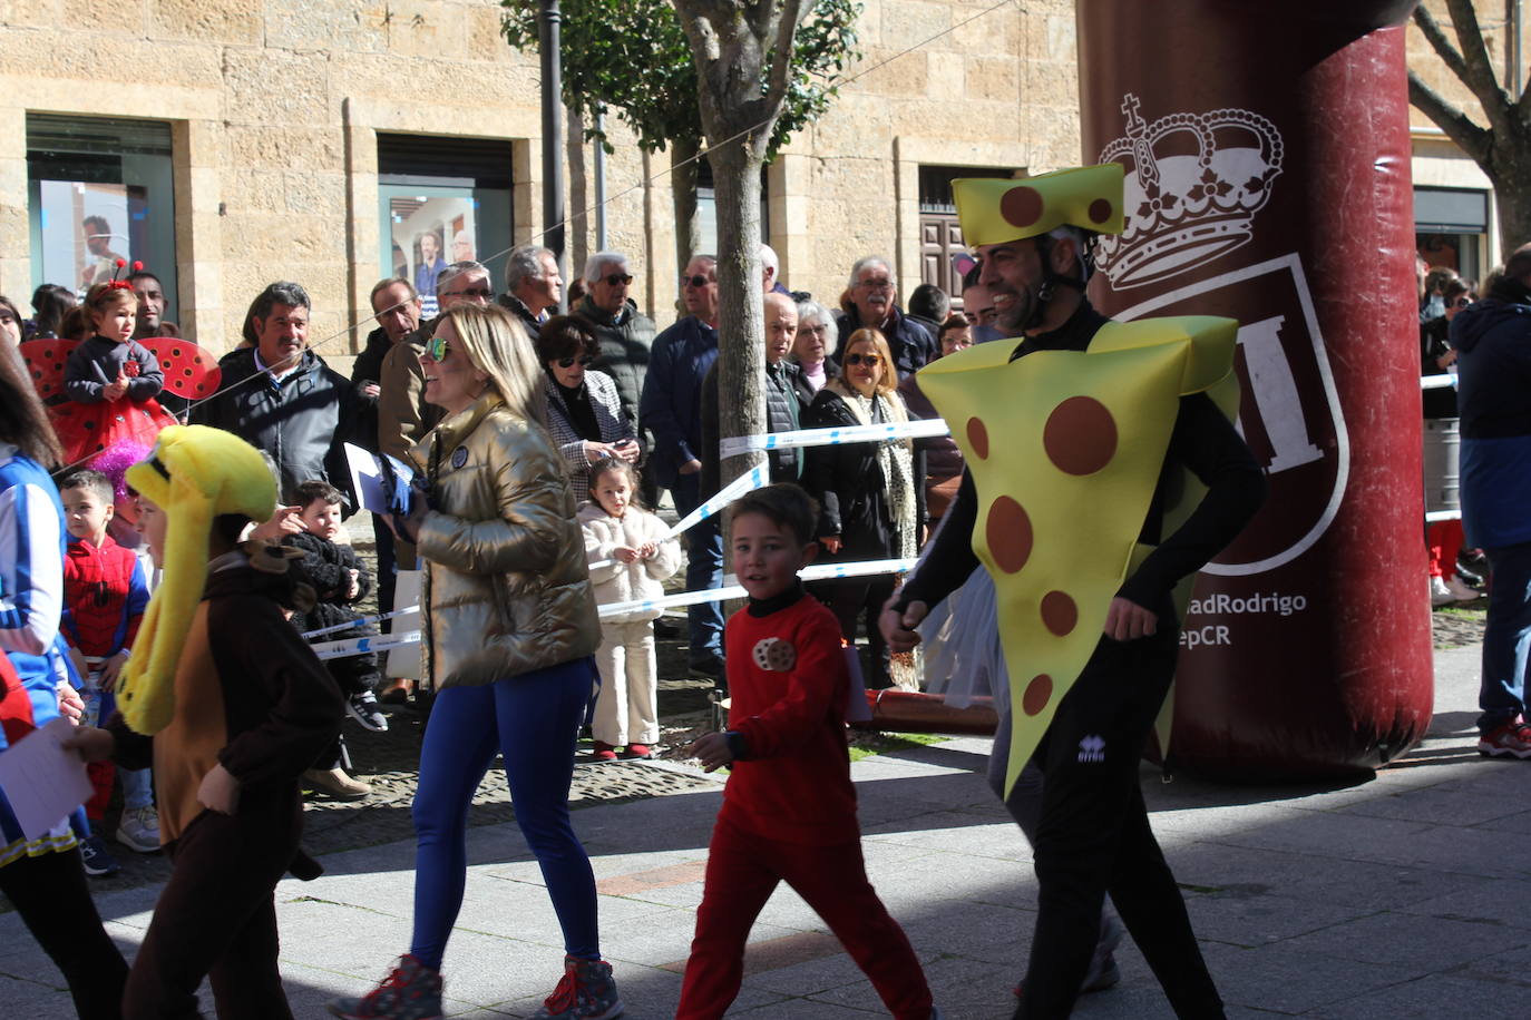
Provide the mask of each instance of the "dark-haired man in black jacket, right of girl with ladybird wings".
{"label": "dark-haired man in black jacket, right of girl with ladybird wings", "polygon": [[343,443],[358,421],[355,388],[308,350],[308,292],[273,283],[250,309],[257,343],[219,364],[224,379],[191,421],[243,437],[277,465],[282,499],[320,479],[351,491]]}

